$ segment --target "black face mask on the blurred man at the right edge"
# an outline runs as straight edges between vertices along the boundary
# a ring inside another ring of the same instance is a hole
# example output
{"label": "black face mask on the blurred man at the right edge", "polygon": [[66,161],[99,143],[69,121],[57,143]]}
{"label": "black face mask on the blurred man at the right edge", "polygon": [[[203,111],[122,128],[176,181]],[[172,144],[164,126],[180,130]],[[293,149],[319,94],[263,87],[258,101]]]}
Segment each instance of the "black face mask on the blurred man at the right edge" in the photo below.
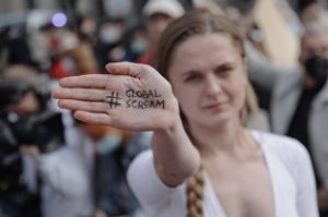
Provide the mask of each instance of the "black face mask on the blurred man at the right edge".
{"label": "black face mask on the blurred man at the right edge", "polygon": [[318,85],[324,85],[328,77],[328,60],[317,55],[312,56],[304,63],[306,73]]}

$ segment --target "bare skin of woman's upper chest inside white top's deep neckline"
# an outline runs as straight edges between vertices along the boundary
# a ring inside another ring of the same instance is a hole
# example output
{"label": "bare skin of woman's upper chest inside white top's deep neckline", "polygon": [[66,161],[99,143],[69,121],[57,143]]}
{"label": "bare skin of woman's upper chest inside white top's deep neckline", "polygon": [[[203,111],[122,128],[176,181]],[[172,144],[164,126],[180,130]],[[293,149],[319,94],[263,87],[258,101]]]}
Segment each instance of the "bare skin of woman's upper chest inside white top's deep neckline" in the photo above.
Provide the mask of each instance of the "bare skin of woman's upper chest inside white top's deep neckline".
{"label": "bare skin of woman's upper chest inside white top's deep neckline", "polygon": [[226,216],[273,216],[270,177],[259,147],[203,159]]}

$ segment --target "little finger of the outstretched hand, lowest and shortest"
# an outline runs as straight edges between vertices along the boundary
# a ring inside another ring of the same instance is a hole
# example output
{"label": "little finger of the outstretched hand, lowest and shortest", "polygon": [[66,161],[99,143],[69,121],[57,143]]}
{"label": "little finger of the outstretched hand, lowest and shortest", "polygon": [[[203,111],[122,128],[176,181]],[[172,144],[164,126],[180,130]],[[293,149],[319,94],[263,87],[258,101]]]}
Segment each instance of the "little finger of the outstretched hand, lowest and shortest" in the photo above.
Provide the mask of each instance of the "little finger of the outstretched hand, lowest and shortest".
{"label": "little finger of the outstretched hand, lowest and shortest", "polygon": [[112,119],[107,113],[92,113],[87,111],[78,110],[73,113],[73,116],[75,119],[86,123],[104,124],[104,125],[112,124]]}

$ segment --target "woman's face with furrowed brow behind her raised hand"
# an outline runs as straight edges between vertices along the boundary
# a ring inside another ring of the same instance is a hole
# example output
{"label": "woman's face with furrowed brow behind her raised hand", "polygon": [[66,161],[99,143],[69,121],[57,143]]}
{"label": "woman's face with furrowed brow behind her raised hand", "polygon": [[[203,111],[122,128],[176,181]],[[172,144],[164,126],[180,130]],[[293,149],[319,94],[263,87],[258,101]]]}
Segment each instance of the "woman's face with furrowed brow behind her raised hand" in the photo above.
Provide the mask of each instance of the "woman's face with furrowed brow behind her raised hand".
{"label": "woman's face with furrowed brow behind her raised hand", "polygon": [[216,128],[239,121],[247,75],[230,36],[196,35],[178,45],[168,79],[190,126]]}

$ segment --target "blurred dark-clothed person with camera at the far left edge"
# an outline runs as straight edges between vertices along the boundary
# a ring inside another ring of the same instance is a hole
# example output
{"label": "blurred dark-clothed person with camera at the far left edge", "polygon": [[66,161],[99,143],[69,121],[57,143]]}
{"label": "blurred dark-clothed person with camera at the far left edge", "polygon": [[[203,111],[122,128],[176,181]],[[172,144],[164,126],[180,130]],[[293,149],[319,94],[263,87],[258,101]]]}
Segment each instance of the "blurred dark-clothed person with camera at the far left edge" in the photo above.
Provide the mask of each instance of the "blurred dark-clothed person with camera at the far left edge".
{"label": "blurred dark-clothed person with camera at the far left edge", "polygon": [[33,129],[26,126],[42,111],[42,99],[26,81],[3,77],[0,99],[0,214],[38,217],[37,169],[24,150],[37,146],[38,135],[32,137]]}

